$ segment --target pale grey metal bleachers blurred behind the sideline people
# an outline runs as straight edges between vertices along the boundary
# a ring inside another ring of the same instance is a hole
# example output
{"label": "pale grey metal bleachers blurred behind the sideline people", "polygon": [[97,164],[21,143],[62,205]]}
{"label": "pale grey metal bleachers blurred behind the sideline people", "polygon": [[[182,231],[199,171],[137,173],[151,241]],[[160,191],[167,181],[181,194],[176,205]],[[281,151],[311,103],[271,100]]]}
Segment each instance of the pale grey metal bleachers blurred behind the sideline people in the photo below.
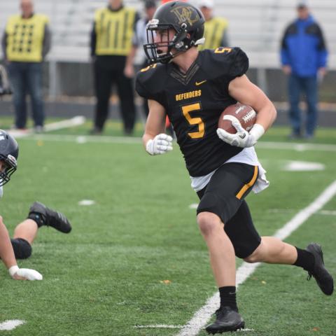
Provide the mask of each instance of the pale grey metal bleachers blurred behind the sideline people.
{"label": "pale grey metal bleachers blurred behind the sideline people", "polygon": [[[190,2],[197,3],[197,0]],[[50,18],[52,50],[50,62],[88,62],[89,36],[94,10],[106,6],[104,0],[35,0],[35,10]],[[142,2],[125,0],[142,10]],[[279,67],[279,44],[283,29],[295,18],[293,0],[215,0],[215,15],[230,22],[230,43],[247,53],[251,66]],[[321,23],[330,50],[330,69],[336,69],[336,1],[310,0],[311,12]],[[0,2],[0,34],[8,15],[18,13],[19,1]]]}

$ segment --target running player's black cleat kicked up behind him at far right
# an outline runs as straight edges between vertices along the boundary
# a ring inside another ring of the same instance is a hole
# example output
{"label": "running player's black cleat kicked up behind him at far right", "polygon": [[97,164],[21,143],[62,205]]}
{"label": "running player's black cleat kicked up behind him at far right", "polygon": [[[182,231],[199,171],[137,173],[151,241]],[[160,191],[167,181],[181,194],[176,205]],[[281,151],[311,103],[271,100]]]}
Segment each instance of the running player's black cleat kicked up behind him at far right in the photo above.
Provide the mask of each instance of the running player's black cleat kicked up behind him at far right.
{"label": "running player's black cleat kicked up behind him at far right", "polygon": [[325,295],[332,295],[334,291],[334,280],[331,274],[325,269],[323,261],[323,252],[320,245],[311,243],[306,248],[312,255],[314,255],[314,268],[308,272],[307,280],[314,276],[318,286]]}

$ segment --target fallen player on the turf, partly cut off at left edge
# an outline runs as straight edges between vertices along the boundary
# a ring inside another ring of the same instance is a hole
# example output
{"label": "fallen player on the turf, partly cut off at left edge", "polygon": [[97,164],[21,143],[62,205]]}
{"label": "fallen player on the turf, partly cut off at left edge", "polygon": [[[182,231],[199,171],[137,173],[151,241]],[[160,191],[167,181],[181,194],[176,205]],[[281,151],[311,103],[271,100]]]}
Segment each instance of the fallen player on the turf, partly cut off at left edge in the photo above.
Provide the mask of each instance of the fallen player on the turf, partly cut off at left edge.
{"label": "fallen player on the turf, partly cut off at left edge", "polygon": [[[0,197],[3,185],[10,181],[10,176],[17,169],[19,154],[18,143],[7,132],[0,130]],[[19,268],[16,259],[26,259],[31,255],[31,244],[37,230],[43,225],[52,226],[64,233],[71,231],[71,225],[60,212],[53,211],[40,202],[34,202],[27,219],[15,228],[10,239],[6,226],[0,216],[0,259],[15,280],[42,280],[43,276],[34,269]]]}

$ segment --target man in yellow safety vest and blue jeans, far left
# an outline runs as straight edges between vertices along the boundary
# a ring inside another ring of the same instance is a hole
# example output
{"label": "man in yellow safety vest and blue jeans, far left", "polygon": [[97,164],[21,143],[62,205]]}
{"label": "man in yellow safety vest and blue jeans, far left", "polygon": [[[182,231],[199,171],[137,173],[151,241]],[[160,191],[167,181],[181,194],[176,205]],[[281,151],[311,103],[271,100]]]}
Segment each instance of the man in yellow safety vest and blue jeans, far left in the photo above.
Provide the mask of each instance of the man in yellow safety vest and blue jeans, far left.
{"label": "man in yellow safety vest and blue jeans, far left", "polygon": [[15,128],[26,128],[25,98],[29,94],[34,129],[41,132],[44,124],[42,62],[50,50],[49,19],[43,14],[34,13],[31,0],[21,0],[20,8],[21,14],[8,18],[1,43],[13,86]]}

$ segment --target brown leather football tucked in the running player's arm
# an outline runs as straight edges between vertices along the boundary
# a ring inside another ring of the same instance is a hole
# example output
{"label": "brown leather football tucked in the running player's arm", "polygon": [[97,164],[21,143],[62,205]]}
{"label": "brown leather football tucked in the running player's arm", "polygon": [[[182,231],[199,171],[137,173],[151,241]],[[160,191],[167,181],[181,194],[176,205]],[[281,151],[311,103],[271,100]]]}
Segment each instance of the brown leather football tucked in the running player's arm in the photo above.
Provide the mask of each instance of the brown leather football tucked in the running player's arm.
{"label": "brown leather football tucked in the running player's arm", "polygon": [[233,104],[228,106],[222,113],[218,120],[218,128],[222,128],[231,134],[237,133],[235,127],[232,126],[232,120],[237,119],[244,130],[249,131],[253,127],[257,113],[251,106],[244,104]]}

